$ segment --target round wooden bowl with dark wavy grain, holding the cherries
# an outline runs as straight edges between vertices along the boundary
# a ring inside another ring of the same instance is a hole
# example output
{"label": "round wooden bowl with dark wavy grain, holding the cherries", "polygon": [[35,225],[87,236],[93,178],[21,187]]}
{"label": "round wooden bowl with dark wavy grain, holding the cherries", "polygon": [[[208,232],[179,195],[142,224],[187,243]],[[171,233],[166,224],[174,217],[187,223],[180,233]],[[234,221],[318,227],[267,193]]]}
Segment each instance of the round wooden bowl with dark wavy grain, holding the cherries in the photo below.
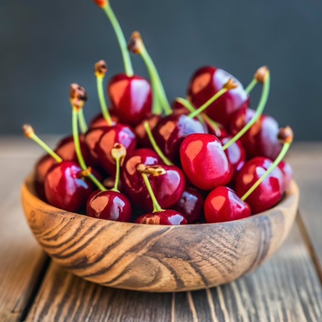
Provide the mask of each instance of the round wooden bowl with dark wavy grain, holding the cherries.
{"label": "round wooden bowl with dark wavy grain, holding the cherries", "polygon": [[274,208],[231,222],[143,225],[101,220],[37,198],[22,186],[27,222],[44,251],[67,271],[108,287],[178,292],[227,283],[251,272],[288,236],[299,191],[293,181]]}

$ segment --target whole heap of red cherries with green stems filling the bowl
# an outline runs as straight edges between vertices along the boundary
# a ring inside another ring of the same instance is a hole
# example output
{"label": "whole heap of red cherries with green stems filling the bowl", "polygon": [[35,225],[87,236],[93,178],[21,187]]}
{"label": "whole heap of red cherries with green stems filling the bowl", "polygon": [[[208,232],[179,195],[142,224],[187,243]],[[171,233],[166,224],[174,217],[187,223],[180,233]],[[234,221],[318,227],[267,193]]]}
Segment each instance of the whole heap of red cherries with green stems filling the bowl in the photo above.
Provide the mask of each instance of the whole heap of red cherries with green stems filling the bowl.
{"label": "whole heap of red cherries with green stems filling the bowl", "polygon": [[[35,166],[40,198],[67,211],[86,207],[87,216],[99,219],[163,225],[236,220],[276,205],[292,179],[282,158],[293,132],[262,114],[269,69],[259,68],[244,89],[223,69],[200,68],[187,97],[171,106],[140,34],[127,44],[109,1],[94,2],[112,23],[126,72],[108,82],[108,109],[106,63],[95,64],[101,113],[88,127],[87,93],[70,85],[73,134],[55,150],[23,126],[48,152]],[[144,60],[150,81],[134,75],[130,52]],[[249,93],[257,83],[262,94],[251,110]]]}

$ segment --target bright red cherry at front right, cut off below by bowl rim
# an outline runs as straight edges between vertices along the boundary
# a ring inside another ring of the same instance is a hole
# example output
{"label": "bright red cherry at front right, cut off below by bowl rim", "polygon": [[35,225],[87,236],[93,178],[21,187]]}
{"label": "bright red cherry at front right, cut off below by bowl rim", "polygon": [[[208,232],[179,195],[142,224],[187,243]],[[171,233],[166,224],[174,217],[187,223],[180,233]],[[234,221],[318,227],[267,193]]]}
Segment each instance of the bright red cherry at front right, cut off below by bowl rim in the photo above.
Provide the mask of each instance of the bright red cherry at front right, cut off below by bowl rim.
{"label": "bright red cherry at front right, cut off below by bowl rim", "polygon": [[207,223],[219,223],[251,216],[251,208],[236,192],[227,187],[214,188],[207,195],[204,204]]}

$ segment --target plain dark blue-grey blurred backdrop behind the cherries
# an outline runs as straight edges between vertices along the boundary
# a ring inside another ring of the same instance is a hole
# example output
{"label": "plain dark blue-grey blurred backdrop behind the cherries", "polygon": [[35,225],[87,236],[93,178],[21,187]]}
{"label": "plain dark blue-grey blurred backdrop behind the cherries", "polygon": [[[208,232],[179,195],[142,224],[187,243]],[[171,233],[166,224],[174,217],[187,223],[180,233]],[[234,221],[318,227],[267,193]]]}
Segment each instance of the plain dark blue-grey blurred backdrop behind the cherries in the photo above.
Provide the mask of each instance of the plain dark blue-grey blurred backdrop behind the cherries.
{"label": "plain dark blue-grey blurred backdrop behind the cherries", "polygon": [[[139,30],[169,100],[185,96],[193,71],[223,68],[244,86],[261,65],[271,69],[265,114],[289,124],[296,140],[322,140],[322,1],[110,0],[128,39]],[[1,0],[0,134],[71,129],[68,87],[88,93],[84,113],[99,112],[93,67],[104,59],[105,81],[123,71],[113,29],[92,0]],[[148,77],[139,56],[135,73]],[[257,105],[261,86],[251,95]]]}

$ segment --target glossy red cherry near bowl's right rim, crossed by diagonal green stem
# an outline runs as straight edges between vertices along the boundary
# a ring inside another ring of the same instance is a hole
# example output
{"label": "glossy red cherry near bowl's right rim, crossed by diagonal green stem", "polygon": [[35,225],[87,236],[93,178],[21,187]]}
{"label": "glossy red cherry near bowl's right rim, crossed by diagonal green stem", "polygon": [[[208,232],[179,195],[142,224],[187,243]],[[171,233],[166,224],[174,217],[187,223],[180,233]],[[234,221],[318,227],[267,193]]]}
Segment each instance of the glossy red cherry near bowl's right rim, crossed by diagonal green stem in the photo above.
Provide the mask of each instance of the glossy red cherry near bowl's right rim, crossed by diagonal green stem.
{"label": "glossy red cherry near bowl's right rim, crossed by diagonal green stem", "polygon": [[[239,198],[253,186],[272,163],[272,160],[262,156],[257,156],[245,163],[236,178],[236,194]],[[283,173],[276,167],[245,201],[255,214],[275,206],[282,195]]]}

